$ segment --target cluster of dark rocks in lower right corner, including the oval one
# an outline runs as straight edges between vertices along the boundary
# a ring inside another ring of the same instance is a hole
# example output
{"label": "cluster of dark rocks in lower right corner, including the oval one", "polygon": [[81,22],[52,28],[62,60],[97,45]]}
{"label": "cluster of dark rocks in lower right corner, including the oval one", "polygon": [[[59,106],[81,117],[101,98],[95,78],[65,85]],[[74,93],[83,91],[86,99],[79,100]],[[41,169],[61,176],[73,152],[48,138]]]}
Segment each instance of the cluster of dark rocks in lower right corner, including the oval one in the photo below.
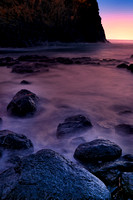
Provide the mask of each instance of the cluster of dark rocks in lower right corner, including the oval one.
{"label": "cluster of dark rocks in lower right corner, including the oval one", "polygon": [[121,154],[115,143],[97,139],[79,145],[74,157],[105,183],[112,199],[128,200],[133,197],[133,155]]}

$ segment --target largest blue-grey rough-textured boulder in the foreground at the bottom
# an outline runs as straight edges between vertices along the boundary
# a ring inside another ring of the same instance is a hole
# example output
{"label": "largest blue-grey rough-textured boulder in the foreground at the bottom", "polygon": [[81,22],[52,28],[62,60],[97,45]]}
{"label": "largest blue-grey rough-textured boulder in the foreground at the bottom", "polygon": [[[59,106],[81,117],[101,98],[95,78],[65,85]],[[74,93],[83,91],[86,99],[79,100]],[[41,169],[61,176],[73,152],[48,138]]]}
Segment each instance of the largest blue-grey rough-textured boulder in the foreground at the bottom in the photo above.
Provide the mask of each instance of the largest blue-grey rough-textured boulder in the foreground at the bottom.
{"label": "largest blue-grey rough-textured boulder in the foreground at the bottom", "polygon": [[0,174],[2,200],[110,199],[106,186],[87,170],[52,150],[21,159]]}

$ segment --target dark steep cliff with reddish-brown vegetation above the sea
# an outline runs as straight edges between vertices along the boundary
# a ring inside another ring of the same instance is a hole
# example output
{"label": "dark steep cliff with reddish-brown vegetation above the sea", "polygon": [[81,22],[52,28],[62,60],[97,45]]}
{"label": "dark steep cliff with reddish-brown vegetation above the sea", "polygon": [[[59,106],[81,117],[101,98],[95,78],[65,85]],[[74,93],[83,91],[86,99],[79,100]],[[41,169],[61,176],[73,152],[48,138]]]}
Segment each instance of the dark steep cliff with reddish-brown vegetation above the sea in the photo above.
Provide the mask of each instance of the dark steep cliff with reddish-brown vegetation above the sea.
{"label": "dark steep cliff with reddish-brown vegetation above the sea", "polygon": [[0,46],[106,41],[96,0],[1,0]]}

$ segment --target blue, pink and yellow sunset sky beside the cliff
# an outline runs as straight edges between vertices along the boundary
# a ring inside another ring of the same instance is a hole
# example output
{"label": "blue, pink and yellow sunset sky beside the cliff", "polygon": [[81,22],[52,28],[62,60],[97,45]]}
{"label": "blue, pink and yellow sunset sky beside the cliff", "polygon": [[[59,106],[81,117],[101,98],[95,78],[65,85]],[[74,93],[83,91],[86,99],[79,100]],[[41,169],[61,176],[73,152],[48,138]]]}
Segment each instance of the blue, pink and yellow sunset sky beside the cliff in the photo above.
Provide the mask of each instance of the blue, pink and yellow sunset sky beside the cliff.
{"label": "blue, pink and yellow sunset sky beside the cliff", "polygon": [[133,0],[97,0],[107,39],[133,40]]}

